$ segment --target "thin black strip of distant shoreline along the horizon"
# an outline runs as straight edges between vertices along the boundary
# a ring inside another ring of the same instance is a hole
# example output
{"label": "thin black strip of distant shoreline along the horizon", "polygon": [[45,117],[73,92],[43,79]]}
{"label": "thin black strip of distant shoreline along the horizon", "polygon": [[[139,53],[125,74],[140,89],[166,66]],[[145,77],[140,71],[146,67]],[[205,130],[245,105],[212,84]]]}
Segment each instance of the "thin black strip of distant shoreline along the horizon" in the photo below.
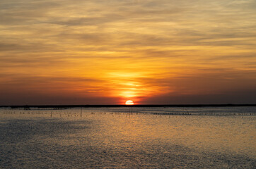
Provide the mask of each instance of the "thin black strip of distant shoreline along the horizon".
{"label": "thin black strip of distant shoreline along the horizon", "polygon": [[103,107],[244,107],[256,104],[138,104],[138,105],[12,105],[0,108],[103,108]]}

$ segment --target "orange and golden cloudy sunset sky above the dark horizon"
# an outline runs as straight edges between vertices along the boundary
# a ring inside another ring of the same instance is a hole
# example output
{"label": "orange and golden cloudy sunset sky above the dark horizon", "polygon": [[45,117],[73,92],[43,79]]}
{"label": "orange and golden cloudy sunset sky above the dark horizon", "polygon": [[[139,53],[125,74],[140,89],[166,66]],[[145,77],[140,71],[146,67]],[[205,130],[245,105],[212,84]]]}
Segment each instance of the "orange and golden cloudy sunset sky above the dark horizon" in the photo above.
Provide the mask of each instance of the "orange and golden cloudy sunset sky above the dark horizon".
{"label": "orange and golden cloudy sunset sky above the dark horizon", "polygon": [[1,0],[0,105],[256,104],[255,0]]}

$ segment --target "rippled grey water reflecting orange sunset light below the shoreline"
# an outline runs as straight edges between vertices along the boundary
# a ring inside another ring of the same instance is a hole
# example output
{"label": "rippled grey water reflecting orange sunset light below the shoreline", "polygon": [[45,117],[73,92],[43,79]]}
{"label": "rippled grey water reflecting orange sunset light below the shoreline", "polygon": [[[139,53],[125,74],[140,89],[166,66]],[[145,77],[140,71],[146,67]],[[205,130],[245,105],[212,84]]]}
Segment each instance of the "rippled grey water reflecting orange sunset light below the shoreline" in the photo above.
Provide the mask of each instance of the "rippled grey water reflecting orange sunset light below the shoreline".
{"label": "rippled grey water reflecting orange sunset light below the shoreline", "polygon": [[256,107],[0,109],[0,168],[256,168]]}

